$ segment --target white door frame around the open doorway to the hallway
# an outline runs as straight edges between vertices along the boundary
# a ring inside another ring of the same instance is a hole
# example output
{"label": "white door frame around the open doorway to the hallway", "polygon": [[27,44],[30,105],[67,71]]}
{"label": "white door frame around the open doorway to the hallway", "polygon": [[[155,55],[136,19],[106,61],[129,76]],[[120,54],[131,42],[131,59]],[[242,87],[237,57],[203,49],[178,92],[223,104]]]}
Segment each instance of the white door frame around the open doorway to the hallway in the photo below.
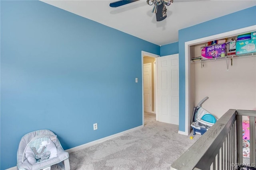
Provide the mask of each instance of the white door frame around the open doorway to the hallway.
{"label": "white door frame around the open doorway to the hallway", "polygon": [[[143,82],[143,57],[148,56],[148,57],[154,57],[156,58],[156,77],[154,77],[154,80],[158,80],[157,76],[157,58],[160,57],[160,55],[156,55],[153,53],[148,53],[146,51],[141,51],[141,68],[142,68],[142,125],[144,127],[144,82]],[[154,81],[154,113],[156,114],[156,121],[158,121],[158,84],[157,81]]]}

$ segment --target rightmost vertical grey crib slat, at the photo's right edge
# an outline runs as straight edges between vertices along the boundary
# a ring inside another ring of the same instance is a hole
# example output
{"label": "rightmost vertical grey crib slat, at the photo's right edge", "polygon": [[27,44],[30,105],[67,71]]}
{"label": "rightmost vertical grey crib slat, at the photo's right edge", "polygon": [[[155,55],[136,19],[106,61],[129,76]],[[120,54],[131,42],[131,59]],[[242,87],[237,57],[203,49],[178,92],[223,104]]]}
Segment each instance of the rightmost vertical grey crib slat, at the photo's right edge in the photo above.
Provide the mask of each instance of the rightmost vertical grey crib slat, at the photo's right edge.
{"label": "rightmost vertical grey crib slat, at the photo's right edge", "polygon": [[250,116],[250,164],[255,167],[255,116]]}

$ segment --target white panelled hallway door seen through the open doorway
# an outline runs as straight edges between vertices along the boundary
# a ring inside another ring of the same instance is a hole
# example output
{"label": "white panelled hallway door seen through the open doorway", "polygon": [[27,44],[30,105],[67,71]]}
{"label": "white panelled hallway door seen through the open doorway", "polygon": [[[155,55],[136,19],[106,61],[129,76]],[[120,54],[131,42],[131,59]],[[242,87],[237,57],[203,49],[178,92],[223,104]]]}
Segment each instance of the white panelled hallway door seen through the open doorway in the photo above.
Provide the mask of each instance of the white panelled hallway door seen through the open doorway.
{"label": "white panelled hallway door seen through the open doorway", "polygon": [[152,112],[152,69],[151,63],[143,64],[144,111]]}

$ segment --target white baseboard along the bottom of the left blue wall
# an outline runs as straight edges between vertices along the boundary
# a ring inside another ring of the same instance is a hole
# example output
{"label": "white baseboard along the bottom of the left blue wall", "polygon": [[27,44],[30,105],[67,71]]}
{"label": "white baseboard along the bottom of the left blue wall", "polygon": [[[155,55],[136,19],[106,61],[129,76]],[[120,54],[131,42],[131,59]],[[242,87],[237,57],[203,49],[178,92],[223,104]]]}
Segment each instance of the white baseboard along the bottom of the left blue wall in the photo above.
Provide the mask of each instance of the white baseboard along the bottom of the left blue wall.
{"label": "white baseboard along the bottom of the left blue wall", "polygon": [[[77,146],[77,147],[74,147],[74,148],[70,148],[70,149],[67,149],[67,150],[65,150],[65,151],[67,151],[68,153],[76,152],[76,151],[78,151],[78,150],[81,150],[81,149],[84,149],[84,148],[87,148],[87,147],[91,147],[91,146],[96,145],[96,144],[98,144],[98,143],[102,143],[102,142],[104,142],[104,141],[108,141],[109,139],[113,139],[113,138],[115,138],[115,137],[119,137],[119,136],[124,135],[124,134],[126,134],[126,133],[129,133],[129,132],[138,130],[138,129],[142,128],[142,127],[143,127],[143,125],[138,126],[138,127],[134,127],[134,128],[129,129],[129,130],[127,130],[127,131],[123,131],[123,132],[120,132],[120,133],[116,133],[116,134],[114,134],[114,135],[110,135],[110,136],[108,136],[108,137],[104,137],[104,138],[98,139],[98,140],[96,140],[96,141],[92,141],[92,142],[89,142],[89,143],[86,143],[86,144],[83,144],[83,145],[80,145],[80,146]],[[8,169],[6,169],[6,170],[17,170],[17,166],[14,166],[14,167],[12,167],[12,168],[8,168]]]}

